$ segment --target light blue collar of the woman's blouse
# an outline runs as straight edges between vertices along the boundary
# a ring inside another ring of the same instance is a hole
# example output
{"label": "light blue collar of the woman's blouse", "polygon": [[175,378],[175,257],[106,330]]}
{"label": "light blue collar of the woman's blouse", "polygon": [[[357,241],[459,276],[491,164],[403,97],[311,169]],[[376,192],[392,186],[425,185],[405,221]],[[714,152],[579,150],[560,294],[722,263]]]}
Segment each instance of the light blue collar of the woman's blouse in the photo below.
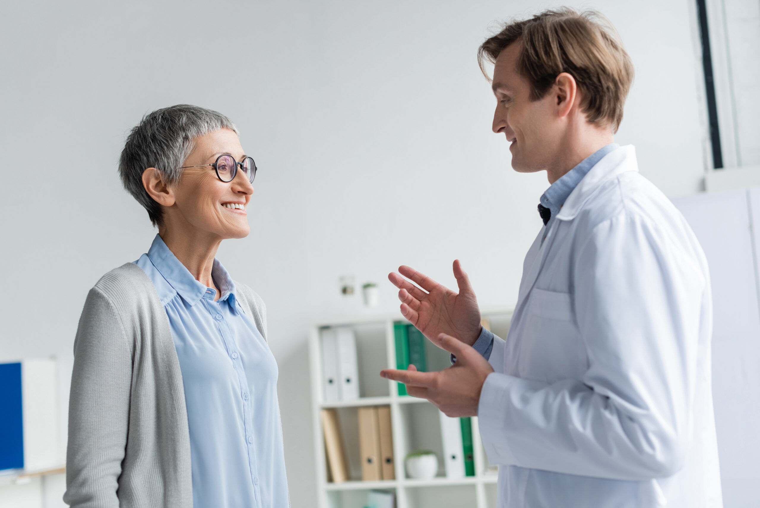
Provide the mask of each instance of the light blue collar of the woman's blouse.
{"label": "light blue collar of the woman's blouse", "polygon": [[[169,247],[166,246],[160,235],[157,234],[154,238],[153,244],[147,251],[147,256],[161,276],[166,279],[166,282],[190,305],[195,305],[203,297],[214,300],[216,291],[196,281],[190,271],[185,268],[185,265],[182,265],[179,259],[174,256],[174,253],[169,250]],[[217,284],[217,287],[222,292],[218,301],[229,297],[230,305],[234,308],[235,284],[233,284],[233,279],[218,259],[214,259],[214,266],[211,268],[211,278],[214,279],[214,283]]]}

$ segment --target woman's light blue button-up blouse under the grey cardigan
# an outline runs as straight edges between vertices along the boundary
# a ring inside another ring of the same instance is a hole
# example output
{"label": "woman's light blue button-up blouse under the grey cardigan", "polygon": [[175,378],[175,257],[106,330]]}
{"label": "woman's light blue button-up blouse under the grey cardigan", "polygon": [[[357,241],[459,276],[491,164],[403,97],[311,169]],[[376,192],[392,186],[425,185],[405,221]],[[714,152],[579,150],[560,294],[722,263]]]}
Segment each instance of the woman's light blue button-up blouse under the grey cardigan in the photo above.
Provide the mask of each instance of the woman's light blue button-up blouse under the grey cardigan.
{"label": "woman's light blue button-up blouse under the grey cardigan", "polygon": [[135,264],[156,287],[179,357],[194,508],[287,508],[277,363],[230,274],[214,259],[214,301],[159,235]]}

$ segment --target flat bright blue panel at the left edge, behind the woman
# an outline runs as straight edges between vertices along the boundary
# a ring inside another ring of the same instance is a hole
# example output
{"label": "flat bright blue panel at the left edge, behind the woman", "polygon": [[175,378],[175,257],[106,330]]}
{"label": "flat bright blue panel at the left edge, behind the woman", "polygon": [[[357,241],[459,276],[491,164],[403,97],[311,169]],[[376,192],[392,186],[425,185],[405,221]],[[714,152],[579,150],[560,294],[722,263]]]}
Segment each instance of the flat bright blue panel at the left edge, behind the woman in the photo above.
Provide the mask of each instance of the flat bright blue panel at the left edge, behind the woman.
{"label": "flat bright blue panel at the left edge, behind the woman", "polygon": [[0,364],[0,471],[24,467],[21,364]]}

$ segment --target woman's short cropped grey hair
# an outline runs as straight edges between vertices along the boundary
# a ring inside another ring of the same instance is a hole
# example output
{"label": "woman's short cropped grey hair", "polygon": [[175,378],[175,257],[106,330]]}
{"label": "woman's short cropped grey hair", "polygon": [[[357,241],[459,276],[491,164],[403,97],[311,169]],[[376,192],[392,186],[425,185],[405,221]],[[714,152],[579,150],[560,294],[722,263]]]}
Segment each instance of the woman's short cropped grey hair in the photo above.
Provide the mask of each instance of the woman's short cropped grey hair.
{"label": "woman's short cropped grey hair", "polygon": [[142,174],[155,167],[172,184],[182,176],[182,163],[195,148],[195,138],[219,129],[239,132],[232,120],[216,111],[190,104],[177,104],[143,116],[129,132],[119,157],[122,185],[147,210],[150,222],[160,226],[163,211],[145,190]]}

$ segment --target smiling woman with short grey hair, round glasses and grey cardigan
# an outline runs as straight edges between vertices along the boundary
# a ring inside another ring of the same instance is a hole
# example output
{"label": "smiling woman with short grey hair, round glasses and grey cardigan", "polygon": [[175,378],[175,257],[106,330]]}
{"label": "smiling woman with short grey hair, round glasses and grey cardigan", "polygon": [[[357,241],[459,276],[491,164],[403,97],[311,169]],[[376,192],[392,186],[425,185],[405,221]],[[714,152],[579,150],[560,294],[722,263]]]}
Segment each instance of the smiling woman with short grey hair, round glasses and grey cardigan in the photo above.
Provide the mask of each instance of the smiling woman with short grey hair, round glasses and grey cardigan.
{"label": "smiling woman with short grey hair, round glasses and grey cardigan", "polygon": [[214,258],[249,234],[252,157],[230,119],[182,104],[132,129],[119,173],[158,234],[84,303],[65,502],[289,506],[266,308]]}

